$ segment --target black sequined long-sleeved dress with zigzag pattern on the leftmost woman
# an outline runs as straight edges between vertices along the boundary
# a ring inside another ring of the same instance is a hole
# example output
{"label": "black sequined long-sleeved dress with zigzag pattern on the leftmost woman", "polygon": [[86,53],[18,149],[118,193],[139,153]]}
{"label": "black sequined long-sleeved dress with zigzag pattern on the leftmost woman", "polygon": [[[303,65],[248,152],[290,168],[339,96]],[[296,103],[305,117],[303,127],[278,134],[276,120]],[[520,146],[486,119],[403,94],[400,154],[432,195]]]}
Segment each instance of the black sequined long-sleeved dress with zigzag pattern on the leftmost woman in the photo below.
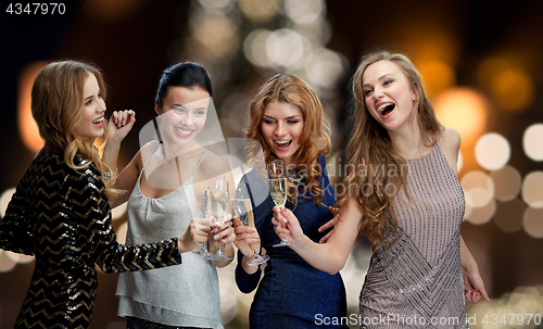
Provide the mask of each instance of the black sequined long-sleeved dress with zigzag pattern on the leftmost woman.
{"label": "black sequined long-sleeved dress with zigzag pattern on the leftmost woman", "polygon": [[17,185],[0,223],[0,248],[36,256],[15,328],[88,328],[94,264],[114,274],[181,263],[177,239],[117,243],[98,168],[72,169],[51,150],[38,154]]}

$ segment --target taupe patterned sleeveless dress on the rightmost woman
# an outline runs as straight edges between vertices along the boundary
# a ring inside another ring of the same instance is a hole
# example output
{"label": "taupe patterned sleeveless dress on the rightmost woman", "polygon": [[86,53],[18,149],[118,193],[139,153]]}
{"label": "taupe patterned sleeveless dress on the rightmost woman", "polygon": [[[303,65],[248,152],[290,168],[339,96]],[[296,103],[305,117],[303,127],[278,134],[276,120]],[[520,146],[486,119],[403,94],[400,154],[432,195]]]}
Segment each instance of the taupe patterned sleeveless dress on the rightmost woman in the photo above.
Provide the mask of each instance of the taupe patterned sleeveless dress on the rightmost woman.
{"label": "taupe patterned sleeveless dress on the rightmost woman", "polygon": [[438,143],[408,160],[393,202],[399,231],[377,251],[359,300],[361,328],[467,328],[460,268],[464,193]]}

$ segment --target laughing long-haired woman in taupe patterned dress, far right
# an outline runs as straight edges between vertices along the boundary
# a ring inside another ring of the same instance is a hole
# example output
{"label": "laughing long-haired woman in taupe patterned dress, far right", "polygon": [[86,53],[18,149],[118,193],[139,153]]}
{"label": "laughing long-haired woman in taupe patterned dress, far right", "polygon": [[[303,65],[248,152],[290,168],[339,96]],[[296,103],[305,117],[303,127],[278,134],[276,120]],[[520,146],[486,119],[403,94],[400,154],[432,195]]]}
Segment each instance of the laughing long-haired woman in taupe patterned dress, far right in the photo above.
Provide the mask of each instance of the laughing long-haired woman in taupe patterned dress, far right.
{"label": "laughing long-haired woman in taupe patterned dress, far right", "polygon": [[331,237],[314,243],[291,212],[277,208],[276,232],[330,274],[344,266],[358,230],[369,239],[374,255],[361,292],[361,328],[466,328],[465,300],[488,295],[459,232],[460,137],[441,126],[403,54],[365,56],[353,93],[355,129]]}

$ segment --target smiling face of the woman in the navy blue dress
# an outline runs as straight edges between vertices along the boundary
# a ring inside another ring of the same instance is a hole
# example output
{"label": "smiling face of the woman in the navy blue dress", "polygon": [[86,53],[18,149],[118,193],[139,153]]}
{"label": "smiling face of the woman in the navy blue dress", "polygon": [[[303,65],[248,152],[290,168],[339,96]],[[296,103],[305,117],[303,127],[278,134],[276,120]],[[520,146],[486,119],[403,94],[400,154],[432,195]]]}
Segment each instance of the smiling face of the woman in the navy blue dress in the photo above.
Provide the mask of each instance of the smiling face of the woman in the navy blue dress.
{"label": "smiling face of the woman in the navy blue dress", "polygon": [[300,107],[287,102],[272,101],[264,109],[262,135],[277,157],[295,164],[304,119]]}

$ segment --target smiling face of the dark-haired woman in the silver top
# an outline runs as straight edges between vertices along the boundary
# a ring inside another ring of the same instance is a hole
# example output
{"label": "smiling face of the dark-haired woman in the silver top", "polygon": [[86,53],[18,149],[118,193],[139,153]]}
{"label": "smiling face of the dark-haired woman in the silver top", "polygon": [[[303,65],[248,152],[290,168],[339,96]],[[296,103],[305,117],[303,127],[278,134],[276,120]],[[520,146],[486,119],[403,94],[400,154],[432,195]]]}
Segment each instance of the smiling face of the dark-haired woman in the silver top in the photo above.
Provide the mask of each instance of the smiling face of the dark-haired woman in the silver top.
{"label": "smiling face of the dark-haired woman in the silver top", "polygon": [[171,87],[162,106],[155,104],[163,117],[164,139],[179,145],[193,141],[205,125],[210,101],[210,93],[200,87]]}

